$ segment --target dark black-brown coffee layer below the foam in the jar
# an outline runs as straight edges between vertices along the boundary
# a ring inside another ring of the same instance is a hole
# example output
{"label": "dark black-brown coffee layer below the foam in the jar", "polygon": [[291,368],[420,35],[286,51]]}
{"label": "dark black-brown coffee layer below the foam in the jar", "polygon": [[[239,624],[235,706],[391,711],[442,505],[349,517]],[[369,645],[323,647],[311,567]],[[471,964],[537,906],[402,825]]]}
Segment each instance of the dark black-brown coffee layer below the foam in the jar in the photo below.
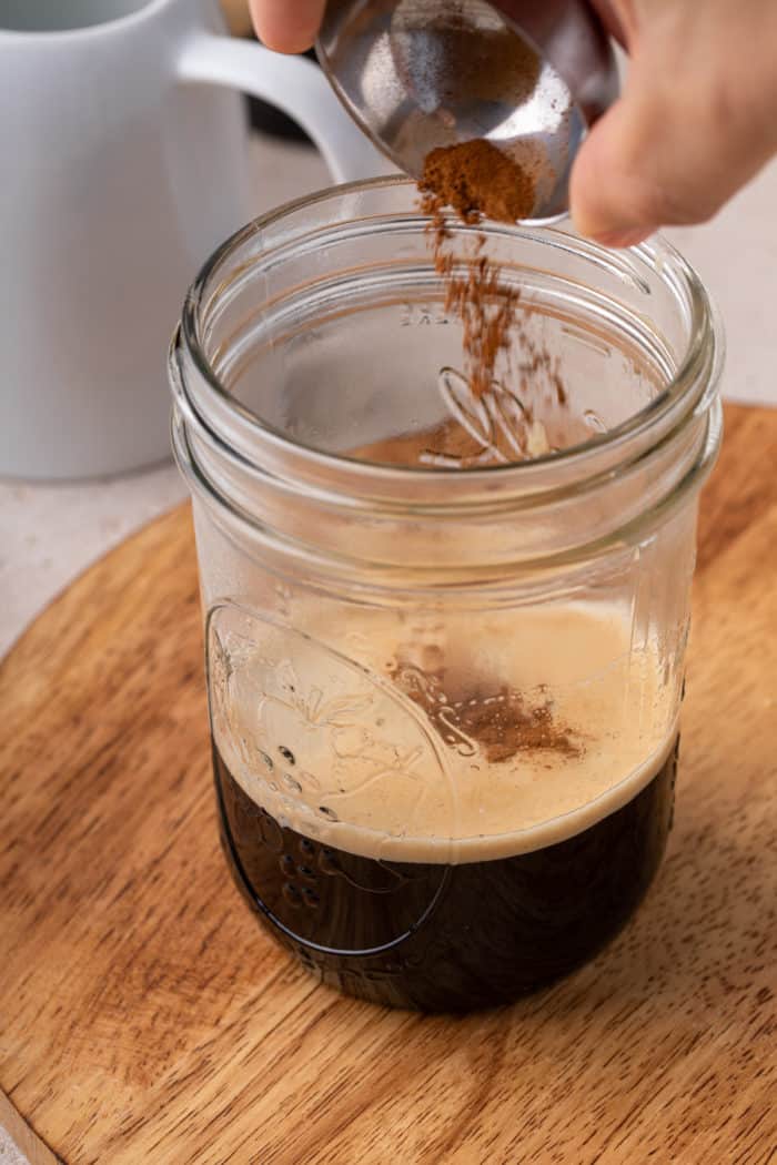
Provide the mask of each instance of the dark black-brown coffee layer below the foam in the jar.
{"label": "dark black-brown coffee layer below the foam in the jar", "polygon": [[387,862],[284,828],[213,753],[221,838],[238,887],[322,980],[401,1008],[506,1003],[591,959],[658,869],[677,749],[627,805],[565,841],[462,864]]}

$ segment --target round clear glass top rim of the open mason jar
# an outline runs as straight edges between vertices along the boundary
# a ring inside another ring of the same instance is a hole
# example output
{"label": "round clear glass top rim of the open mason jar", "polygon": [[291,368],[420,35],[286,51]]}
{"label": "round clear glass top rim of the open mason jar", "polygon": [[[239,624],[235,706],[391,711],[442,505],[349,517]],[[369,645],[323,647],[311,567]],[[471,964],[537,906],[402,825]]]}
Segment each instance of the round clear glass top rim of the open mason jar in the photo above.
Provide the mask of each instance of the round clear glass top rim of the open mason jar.
{"label": "round clear glass top rim of the open mason jar", "polygon": [[[582,443],[525,461],[459,468],[416,465],[397,466],[359,459],[348,453],[322,450],[316,445],[298,440],[275,429],[259,414],[242,404],[225,387],[205,352],[200,338],[200,309],[203,294],[209,281],[218,273],[221,266],[227,264],[229,257],[235,255],[247,241],[259,236],[262,231],[276,226],[298,211],[304,211],[333,198],[342,199],[349,195],[367,193],[370,190],[380,191],[390,188],[414,186],[415,183],[411,179],[402,175],[396,175],[344,183],[304,195],[284,203],[275,210],[268,211],[234,232],[211,254],[200,268],[186,294],[181,324],[174,337],[174,347],[183,341],[188,355],[202,375],[209,391],[213,394],[214,401],[218,401],[219,405],[226,409],[227,414],[231,414],[235,421],[242,425],[247,425],[257,438],[270,442],[277,450],[282,451],[285,449],[292,451],[296,457],[303,458],[311,465],[333,467],[340,473],[355,473],[359,476],[363,476],[370,472],[379,472],[387,480],[415,481],[417,485],[433,478],[437,483],[445,482],[446,480],[455,480],[460,487],[462,481],[466,480],[475,488],[479,482],[494,482],[495,478],[499,478],[506,485],[504,479],[509,478],[520,488],[522,485],[528,485],[530,476],[536,476],[538,473],[543,473],[543,471],[560,467],[581,467],[586,463],[591,464],[592,460],[595,460],[598,454],[629,445],[635,438],[644,436],[652,429],[661,428],[661,422],[666,419],[667,415],[677,410],[678,407],[685,405],[677,418],[678,424],[681,424],[688,414],[695,411],[700,402],[708,401],[714,395],[725,354],[723,332],[718,310],[693,267],[662,235],[655,235],[652,240],[629,248],[627,254],[636,254],[652,261],[656,269],[665,268],[667,263],[672,264],[674,273],[683,281],[692,304],[688,346],[683,361],[662,391],[644,408],[606,432],[594,433]],[[418,217],[423,218],[421,210],[418,210]],[[352,221],[358,221],[358,219],[353,219]],[[346,220],[333,224],[335,228],[337,226],[345,227],[346,225]],[[495,226],[499,228],[503,227],[508,232],[515,231],[520,238],[529,241],[536,240],[544,245],[557,247],[574,245],[579,253],[585,254],[587,252],[589,256],[595,256],[600,263],[601,259],[607,256],[612,266],[615,262],[615,255],[619,254],[559,227],[531,227],[520,224],[516,224],[515,227],[503,226],[502,224],[495,224]],[[205,418],[200,417],[199,419],[203,421]],[[672,425],[671,428],[674,426]],[[212,433],[212,436],[219,439],[217,433]],[[234,454],[235,451],[229,450],[229,452]],[[245,461],[245,453],[239,456],[240,460]]]}

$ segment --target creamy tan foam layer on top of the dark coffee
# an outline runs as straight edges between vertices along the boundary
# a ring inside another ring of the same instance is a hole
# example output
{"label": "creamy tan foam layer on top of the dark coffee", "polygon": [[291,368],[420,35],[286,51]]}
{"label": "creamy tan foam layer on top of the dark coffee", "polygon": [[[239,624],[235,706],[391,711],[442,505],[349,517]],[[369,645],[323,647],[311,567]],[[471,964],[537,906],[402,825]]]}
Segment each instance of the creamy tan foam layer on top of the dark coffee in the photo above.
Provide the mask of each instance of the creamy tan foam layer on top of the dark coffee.
{"label": "creamy tan foam layer on top of the dark coffee", "polygon": [[[528,853],[627,804],[673,746],[674,686],[662,682],[656,644],[631,649],[631,623],[615,607],[403,621],[354,610],[335,628],[308,615],[305,636],[264,634],[261,659],[241,640],[228,718],[212,699],[212,720],[247,796],[326,845],[407,862]],[[488,763],[476,741],[397,691],[397,666],[422,682],[443,675],[452,700],[468,691],[493,700],[488,692],[509,686],[528,707],[551,708],[574,748]]]}

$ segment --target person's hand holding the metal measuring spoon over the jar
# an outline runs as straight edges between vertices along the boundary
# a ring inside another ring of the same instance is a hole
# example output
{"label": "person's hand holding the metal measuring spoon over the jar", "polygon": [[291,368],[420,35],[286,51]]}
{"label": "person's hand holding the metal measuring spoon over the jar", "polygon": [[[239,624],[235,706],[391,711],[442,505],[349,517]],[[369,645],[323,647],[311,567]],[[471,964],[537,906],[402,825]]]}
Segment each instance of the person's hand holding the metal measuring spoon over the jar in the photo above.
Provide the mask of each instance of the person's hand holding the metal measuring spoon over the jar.
{"label": "person's hand holding the metal measuring spoon over the jar", "polygon": [[[631,66],[571,181],[586,235],[630,246],[711,218],[777,153],[775,0],[592,0]],[[270,48],[312,44],[325,0],[250,0]]]}

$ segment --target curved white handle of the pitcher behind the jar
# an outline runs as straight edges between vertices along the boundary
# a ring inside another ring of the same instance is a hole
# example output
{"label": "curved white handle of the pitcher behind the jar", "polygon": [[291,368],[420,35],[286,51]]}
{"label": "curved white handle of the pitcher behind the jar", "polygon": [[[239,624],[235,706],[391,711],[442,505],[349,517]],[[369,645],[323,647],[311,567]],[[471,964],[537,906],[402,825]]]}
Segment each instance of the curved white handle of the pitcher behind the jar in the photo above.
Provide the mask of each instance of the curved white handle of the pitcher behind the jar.
{"label": "curved white handle of the pitcher behind the jar", "polygon": [[334,182],[386,172],[381,155],[306,57],[287,57],[248,41],[204,33],[184,48],[178,76],[240,89],[277,106],[312,139]]}

